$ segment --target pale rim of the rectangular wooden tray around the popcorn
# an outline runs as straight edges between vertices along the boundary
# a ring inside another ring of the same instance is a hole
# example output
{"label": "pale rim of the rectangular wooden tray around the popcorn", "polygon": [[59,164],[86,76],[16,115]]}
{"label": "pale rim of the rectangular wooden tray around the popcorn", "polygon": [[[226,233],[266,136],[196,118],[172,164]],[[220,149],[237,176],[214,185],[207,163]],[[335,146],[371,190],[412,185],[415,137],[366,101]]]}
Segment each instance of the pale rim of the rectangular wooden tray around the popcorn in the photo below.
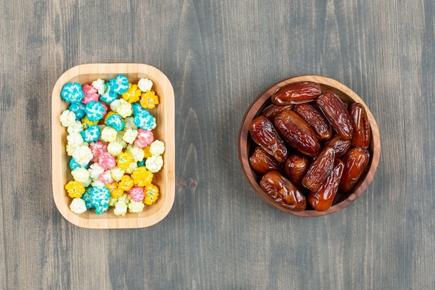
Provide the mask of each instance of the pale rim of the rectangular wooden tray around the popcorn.
{"label": "pale rim of the rectangular wooden tray around the popcorn", "polygon": [[[92,218],[85,218],[85,214],[74,214],[64,201],[65,184],[63,182],[63,169],[61,166],[61,160],[63,156],[62,144],[62,130],[65,129],[60,125],[59,121],[59,111],[61,105],[60,90],[62,86],[76,78],[86,78],[97,79],[98,76],[104,76],[101,78],[106,78],[108,75],[116,76],[117,74],[125,74],[129,76],[142,76],[149,77],[153,81],[158,83],[164,96],[165,102],[165,120],[163,130],[165,132],[165,137],[170,137],[174,140],[174,89],[170,80],[156,67],[151,65],[146,65],[142,63],[87,63],[82,65],[76,65],[65,71],[56,81],[54,85],[53,92],[51,94],[51,184],[53,189],[53,198],[56,207],[60,214],[69,223],[72,223],[79,227],[92,228],[92,229],[122,229],[122,228],[140,228],[149,227],[154,225],[167,214],[169,214],[174,204],[175,199],[175,143],[165,140],[165,154],[163,159],[165,160],[162,170],[164,170],[165,176],[165,199],[163,204],[161,204],[158,211],[149,214],[148,216],[140,216],[139,214],[128,213],[129,216],[116,216],[115,218],[104,218],[104,215],[97,215],[95,213],[89,213]],[[138,77],[139,78],[139,77]],[[60,142],[60,145],[59,145]],[[170,161],[170,162],[168,162]],[[60,168],[60,170],[55,170],[55,168]],[[114,215],[113,215],[114,216]]]}

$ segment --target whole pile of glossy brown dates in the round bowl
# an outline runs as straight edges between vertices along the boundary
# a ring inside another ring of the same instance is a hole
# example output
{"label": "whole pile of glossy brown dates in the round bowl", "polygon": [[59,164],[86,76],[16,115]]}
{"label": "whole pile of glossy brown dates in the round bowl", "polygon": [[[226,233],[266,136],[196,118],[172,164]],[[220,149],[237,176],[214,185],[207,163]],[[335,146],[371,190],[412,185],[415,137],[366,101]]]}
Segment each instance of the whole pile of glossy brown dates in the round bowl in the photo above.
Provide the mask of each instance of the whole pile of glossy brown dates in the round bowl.
{"label": "whole pile of glossy brown dates in the round bowl", "polygon": [[270,100],[249,124],[258,145],[249,164],[262,176],[261,188],[293,211],[306,209],[307,200],[317,211],[329,209],[368,167],[371,129],[365,108],[347,105],[310,81],[283,86]]}

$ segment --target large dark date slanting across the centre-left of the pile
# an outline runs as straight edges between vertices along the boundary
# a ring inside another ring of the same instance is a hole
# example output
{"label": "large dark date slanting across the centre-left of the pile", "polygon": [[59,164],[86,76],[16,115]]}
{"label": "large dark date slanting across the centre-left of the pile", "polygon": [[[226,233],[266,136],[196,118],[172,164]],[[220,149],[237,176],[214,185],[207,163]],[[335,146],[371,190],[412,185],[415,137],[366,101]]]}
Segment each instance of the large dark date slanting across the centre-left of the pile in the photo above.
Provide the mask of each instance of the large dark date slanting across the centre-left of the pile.
{"label": "large dark date slanting across the centre-left of the pile", "polygon": [[302,154],[316,156],[320,150],[320,143],[311,129],[294,111],[283,111],[274,118],[277,130],[286,138],[288,143]]}

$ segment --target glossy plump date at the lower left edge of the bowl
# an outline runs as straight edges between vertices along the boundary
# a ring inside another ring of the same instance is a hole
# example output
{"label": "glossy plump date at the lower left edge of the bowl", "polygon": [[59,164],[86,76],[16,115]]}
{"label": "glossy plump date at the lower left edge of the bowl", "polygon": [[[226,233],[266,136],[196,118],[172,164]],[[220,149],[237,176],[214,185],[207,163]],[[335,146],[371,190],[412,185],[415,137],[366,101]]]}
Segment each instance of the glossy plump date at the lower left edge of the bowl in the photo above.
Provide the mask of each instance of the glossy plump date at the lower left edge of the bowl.
{"label": "glossy plump date at the lower left edge of the bowl", "polygon": [[261,178],[260,186],[271,198],[288,209],[303,211],[306,207],[304,195],[277,171],[266,173]]}

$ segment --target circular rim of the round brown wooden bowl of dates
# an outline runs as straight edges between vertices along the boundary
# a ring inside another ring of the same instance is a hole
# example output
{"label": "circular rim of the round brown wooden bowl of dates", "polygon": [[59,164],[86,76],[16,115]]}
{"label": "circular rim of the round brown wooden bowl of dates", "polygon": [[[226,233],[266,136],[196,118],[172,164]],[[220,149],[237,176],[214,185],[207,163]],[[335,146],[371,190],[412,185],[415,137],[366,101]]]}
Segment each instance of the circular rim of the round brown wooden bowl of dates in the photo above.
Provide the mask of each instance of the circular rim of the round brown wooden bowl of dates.
{"label": "circular rim of the round brown wooden bowl of dates", "polygon": [[[272,198],[270,198],[269,195],[267,195],[259,186],[258,182],[254,178],[254,175],[249,175],[247,172],[253,172],[252,168],[249,165],[249,156],[247,154],[247,145],[245,145],[249,140],[249,124],[250,122],[262,111],[262,107],[265,107],[265,104],[267,104],[267,100],[270,98],[273,92],[275,92],[278,88],[281,88],[282,86],[286,86],[289,83],[296,83],[299,81],[313,81],[316,83],[319,83],[320,86],[329,86],[334,88],[334,90],[338,90],[341,92],[340,95],[347,95],[351,99],[354,100],[354,102],[359,102],[363,105],[363,107],[366,109],[366,113],[368,115],[368,119],[370,121],[370,127],[372,128],[372,141],[370,144],[370,147],[372,147],[372,150],[370,150],[370,163],[368,165],[368,169],[364,173],[365,179],[360,180],[359,186],[357,186],[354,191],[350,193],[350,195],[345,198],[345,200],[342,200],[338,204],[333,204],[329,209],[326,211],[315,211],[313,210],[304,210],[304,211],[292,211],[283,205],[275,202]],[[316,74],[307,74],[307,75],[300,75],[300,76],[293,76],[288,79],[283,79],[281,81],[278,81],[277,83],[272,84],[272,86],[269,86],[262,92],[260,92],[254,100],[249,104],[247,107],[247,110],[245,111],[245,114],[243,115],[242,122],[240,124],[240,129],[238,132],[238,158],[240,162],[241,169],[243,171],[243,175],[245,175],[247,181],[249,184],[254,188],[254,191],[260,195],[260,197],[267,202],[268,204],[272,205],[272,207],[275,207],[281,211],[286,212],[287,214],[292,214],[294,216],[302,216],[302,217],[310,217],[310,216],[325,216],[327,214],[332,214],[336,211],[340,211],[341,209],[349,206],[354,202],[356,199],[358,199],[364,191],[368,188],[370,183],[372,182],[373,177],[375,176],[375,172],[377,171],[377,166],[379,165],[379,157],[381,153],[381,143],[379,138],[379,128],[377,126],[377,122],[372,115],[372,112],[366,105],[366,103],[359,97],[359,95],[356,94],[353,90],[345,86],[343,83],[340,83],[339,81],[336,81],[335,79],[331,79],[327,76],[321,76]],[[245,151],[244,151],[245,149]]]}

